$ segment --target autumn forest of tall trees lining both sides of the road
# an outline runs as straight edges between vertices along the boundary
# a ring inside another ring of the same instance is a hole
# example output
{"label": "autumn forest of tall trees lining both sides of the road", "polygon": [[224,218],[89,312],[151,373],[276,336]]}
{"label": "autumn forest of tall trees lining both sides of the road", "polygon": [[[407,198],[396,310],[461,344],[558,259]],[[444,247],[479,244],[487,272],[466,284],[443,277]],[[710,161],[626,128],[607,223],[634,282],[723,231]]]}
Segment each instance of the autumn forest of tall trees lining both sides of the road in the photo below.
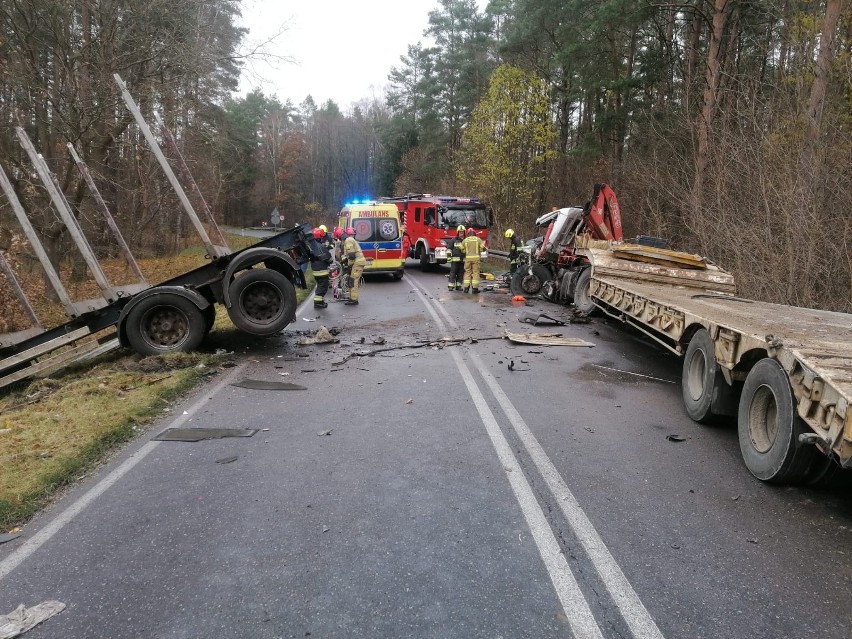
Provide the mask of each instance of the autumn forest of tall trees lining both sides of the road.
{"label": "autumn forest of tall trees lining both sides of the road", "polygon": [[[52,259],[73,251],[17,127],[99,251],[114,249],[67,143],[135,253],[192,237],[117,73],[224,224],[432,192],[486,200],[501,248],[503,229],[540,234],[537,215],[607,182],[627,235],[707,256],[742,296],[852,311],[849,0],[436,0],[386,94],[351,105],[237,95],[241,9],[0,0],[0,168]],[[0,251],[32,261],[4,196]]]}

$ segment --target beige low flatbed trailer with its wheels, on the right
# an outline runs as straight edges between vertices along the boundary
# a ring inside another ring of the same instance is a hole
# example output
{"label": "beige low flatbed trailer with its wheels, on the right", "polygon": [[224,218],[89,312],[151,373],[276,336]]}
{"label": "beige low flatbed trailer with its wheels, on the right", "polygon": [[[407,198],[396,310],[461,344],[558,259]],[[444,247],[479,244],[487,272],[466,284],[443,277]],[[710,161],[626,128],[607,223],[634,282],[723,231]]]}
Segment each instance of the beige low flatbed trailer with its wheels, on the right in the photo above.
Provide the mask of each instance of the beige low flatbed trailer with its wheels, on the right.
{"label": "beige low flatbed trailer with its wheels, on the right", "polygon": [[852,315],[737,297],[724,271],[628,262],[585,248],[607,315],[683,357],[694,420],[737,417],[749,471],[818,483],[852,468]]}

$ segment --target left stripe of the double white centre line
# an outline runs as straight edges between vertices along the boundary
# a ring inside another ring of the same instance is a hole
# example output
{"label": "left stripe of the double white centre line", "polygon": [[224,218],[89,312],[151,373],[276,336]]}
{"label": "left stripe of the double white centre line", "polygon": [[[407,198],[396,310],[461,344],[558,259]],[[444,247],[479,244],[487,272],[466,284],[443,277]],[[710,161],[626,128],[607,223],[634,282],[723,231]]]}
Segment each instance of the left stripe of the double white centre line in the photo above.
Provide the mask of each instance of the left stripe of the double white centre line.
{"label": "left stripe of the double white centre line", "polygon": [[[427,302],[419,283],[415,283],[414,290],[438,328],[446,332],[444,323],[438,317],[433,305]],[[497,458],[506,472],[509,485],[515,494],[518,505],[521,507],[521,512],[527,521],[533,541],[547,569],[547,574],[550,576],[550,581],[553,583],[556,595],[562,604],[568,624],[571,626],[571,632],[575,639],[603,639],[600,627],[595,621],[592,610],[583,596],[574,574],[571,572],[571,567],[568,565],[559,542],[547,522],[547,517],[545,517],[538,500],[536,500],[535,494],[524,476],[524,471],[512,452],[511,446],[509,446],[509,442],[506,441],[497,420],[494,419],[494,414],[488,408],[485,397],[480,392],[461,355],[455,350],[451,351],[451,355],[465,386],[467,386],[467,391],[474,406],[476,406],[488,437],[491,439],[491,445],[497,452]]]}

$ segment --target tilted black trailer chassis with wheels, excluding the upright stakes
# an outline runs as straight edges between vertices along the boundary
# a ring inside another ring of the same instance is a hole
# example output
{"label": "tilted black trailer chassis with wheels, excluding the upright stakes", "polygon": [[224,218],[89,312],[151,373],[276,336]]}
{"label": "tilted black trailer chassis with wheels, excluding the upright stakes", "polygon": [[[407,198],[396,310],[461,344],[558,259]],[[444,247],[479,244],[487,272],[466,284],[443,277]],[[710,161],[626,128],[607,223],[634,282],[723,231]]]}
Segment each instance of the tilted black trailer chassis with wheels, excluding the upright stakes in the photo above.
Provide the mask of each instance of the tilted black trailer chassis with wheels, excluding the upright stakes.
{"label": "tilted black trailer chassis with wheels, excluding the upright stakes", "polygon": [[212,329],[217,303],[237,328],[277,333],[295,319],[295,288],[307,287],[301,265],[318,253],[302,224],[140,292],[117,287],[115,299],[58,327],[0,342],[0,387],[118,345],[142,355],[193,350]]}

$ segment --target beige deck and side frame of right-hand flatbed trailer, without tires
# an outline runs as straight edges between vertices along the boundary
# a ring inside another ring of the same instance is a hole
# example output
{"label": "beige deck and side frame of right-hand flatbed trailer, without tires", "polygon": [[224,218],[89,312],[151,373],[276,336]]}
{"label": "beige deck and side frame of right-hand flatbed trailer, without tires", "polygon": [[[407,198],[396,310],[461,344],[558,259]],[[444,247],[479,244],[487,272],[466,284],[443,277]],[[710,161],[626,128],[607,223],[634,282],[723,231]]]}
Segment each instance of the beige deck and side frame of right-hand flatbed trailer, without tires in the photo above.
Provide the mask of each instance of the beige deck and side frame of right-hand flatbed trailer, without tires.
{"label": "beige deck and side frame of right-hand flatbed trailer, without tires", "polygon": [[[587,253],[594,303],[669,350],[682,355],[695,330],[705,328],[730,384],[742,382],[759,358],[777,360],[799,416],[841,465],[852,467],[852,314],[720,292],[730,291],[733,282],[729,286],[718,270],[692,271],[684,280],[677,277],[680,269],[649,274],[647,265],[619,268],[609,251]],[[661,279],[666,272],[670,277]]]}

